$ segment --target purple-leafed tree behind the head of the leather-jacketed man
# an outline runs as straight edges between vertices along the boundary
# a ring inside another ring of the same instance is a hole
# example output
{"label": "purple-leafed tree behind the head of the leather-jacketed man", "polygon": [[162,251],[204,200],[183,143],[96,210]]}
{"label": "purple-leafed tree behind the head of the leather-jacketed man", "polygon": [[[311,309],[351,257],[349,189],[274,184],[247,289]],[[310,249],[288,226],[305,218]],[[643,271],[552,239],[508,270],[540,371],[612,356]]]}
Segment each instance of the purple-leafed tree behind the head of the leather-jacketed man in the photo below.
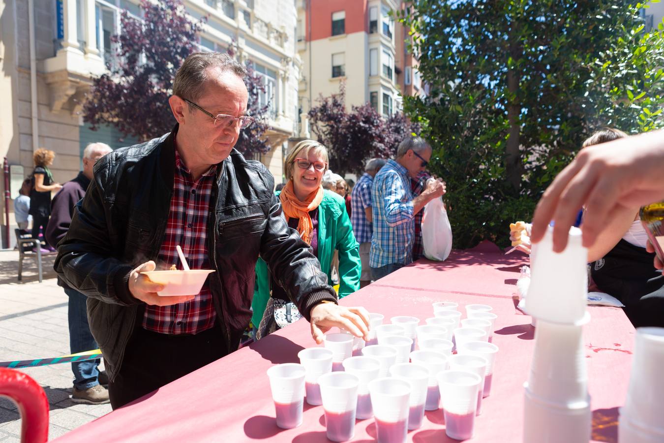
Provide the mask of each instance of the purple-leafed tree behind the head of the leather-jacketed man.
{"label": "purple-leafed tree behind the head of the leather-jacketed man", "polygon": [[[175,126],[168,98],[177,69],[198,50],[197,34],[205,21],[193,22],[180,0],[141,0],[143,20],[123,11],[122,33],[111,38],[114,53],[108,72],[93,80],[83,106],[83,119],[96,130],[112,125],[141,141],[160,137]],[[269,150],[262,141],[268,129],[266,106],[258,104],[262,78],[251,68],[246,79],[248,112],[256,118],[240,132],[236,148],[242,153]]]}

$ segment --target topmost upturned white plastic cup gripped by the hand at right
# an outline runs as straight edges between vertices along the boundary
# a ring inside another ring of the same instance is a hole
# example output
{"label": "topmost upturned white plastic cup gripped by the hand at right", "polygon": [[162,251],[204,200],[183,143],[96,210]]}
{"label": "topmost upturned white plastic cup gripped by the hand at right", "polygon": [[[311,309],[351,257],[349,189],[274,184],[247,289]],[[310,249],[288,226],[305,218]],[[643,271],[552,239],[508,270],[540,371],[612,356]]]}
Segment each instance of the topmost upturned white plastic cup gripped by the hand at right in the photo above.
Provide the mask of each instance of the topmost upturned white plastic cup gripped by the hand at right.
{"label": "topmost upturned white plastic cup gripped by the hand at right", "polygon": [[549,226],[544,238],[533,245],[535,260],[524,311],[538,321],[576,323],[586,315],[588,249],[581,244],[581,230],[572,227],[565,250],[553,252],[552,232]]}

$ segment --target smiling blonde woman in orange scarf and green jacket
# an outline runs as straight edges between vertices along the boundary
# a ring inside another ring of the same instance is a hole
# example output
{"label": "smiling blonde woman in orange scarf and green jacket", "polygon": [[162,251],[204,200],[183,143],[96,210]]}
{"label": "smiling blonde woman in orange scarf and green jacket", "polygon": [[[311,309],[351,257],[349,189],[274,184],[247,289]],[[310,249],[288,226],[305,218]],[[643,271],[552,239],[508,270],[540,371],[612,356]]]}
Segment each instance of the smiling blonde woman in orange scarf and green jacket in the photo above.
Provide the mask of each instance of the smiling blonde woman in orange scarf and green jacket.
{"label": "smiling blonde woman in orange scarf and green jacket", "polygon": [[[286,157],[288,183],[278,195],[288,225],[313,248],[321,269],[327,272],[328,282],[331,282],[332,258],[335,250],[339,251],[341,298],[360,288],[360,252],[345,201],[321,187],[327,162],[327,149],[321,143],[313,140],[297,143]],[[260,258],[256,264],[252,310],[255,339],[301,318],[297,308],[289,302],[288,294],[276,284]]]}

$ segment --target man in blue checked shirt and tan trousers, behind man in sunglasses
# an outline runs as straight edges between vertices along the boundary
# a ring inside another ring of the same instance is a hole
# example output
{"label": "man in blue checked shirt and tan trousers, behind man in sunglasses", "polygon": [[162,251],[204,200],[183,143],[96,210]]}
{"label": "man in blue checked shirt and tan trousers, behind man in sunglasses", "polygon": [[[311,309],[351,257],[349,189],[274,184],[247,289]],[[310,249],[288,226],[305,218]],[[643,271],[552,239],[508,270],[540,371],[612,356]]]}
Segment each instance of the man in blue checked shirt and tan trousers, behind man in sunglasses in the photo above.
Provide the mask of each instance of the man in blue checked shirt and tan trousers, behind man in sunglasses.
{"label": "man in blue checked shirt and tan trousers, behind man in sunglasses", "polygon": [[360,288],[371,283],[371,268],[369,268],[369,250],[371,250],[372,213],[371,213],[371,185],[380,168],[385,165],[383,159],[371,159],[365,165],[365,173],[358,179],[351,191],[351,224],[355,239],[360,244],[360,259],[362,260],[362,274]]}

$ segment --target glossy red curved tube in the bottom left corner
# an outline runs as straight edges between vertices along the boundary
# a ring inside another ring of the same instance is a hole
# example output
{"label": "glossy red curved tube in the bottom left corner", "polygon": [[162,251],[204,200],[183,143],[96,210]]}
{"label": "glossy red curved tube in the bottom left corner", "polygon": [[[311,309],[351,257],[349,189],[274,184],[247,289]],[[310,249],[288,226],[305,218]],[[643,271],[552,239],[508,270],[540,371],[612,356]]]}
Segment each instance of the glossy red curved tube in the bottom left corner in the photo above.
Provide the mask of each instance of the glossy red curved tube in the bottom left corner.
{"label": "glossy red curved tube in the bottom left corner", "polygon": [[35,380],[19,371],[0,368],[0,396],[9,397],[19,406],[22,443],[48,440],[48,400]]}

